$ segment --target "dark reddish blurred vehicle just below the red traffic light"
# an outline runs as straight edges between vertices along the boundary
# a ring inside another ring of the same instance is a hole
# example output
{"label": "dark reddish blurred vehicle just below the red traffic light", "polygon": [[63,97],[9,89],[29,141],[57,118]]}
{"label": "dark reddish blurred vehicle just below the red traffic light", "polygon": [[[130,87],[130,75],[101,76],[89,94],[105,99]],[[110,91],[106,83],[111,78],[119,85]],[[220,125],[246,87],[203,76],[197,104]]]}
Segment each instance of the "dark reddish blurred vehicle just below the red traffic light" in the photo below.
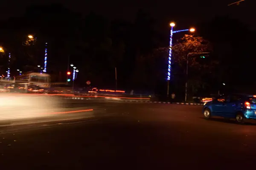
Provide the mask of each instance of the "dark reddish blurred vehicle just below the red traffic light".
{"label": "dark reddish blurred vehicle just below the red traffic light", "polygon": [[72,86],[65,82],[52,83],[49,94],[73,94]]}

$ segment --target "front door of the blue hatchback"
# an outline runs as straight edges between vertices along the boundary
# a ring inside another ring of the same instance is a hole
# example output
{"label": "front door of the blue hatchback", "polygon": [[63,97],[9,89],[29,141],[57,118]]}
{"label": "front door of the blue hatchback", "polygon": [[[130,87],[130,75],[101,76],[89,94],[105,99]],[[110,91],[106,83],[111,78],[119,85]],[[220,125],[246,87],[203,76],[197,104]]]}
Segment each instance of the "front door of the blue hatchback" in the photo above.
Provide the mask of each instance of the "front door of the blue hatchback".
{"label": "front door of the blue hatchback", "polygon": [[226,110],[226,96],[220,96],[212,101],[212,114],[215,116],[222,116]]}

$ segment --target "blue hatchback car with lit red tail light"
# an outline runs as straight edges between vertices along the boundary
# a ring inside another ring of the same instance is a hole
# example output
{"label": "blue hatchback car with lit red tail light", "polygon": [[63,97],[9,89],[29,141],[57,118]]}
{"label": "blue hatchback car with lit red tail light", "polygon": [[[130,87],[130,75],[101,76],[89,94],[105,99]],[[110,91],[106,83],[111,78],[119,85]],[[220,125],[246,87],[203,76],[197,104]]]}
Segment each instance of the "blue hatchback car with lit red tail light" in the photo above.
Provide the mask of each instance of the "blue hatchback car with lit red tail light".
{"label": "blue hatchback car with lit red tail light", "polygon": [[239,124],[244,119],[256,120],[256,96],[248,94],[222,95],[211,102],[204,103],[203,114],[206,119],[221,116],[225,119],[236,119]]}

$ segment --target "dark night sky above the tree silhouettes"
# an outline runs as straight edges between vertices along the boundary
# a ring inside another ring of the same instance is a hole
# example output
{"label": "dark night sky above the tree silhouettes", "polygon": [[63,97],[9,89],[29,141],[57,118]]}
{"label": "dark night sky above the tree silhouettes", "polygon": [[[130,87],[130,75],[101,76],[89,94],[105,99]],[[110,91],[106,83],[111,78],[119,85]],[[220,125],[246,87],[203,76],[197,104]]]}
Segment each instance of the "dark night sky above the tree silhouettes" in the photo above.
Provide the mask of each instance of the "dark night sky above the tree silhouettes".
{"label": "dark night sky above the tree silhouettes", "polygon": [[255,0],[245,0],[239,6],[227,6],[236,0],[9,0],[1,2],[1,18],[17,17],[24,13],[26,6],[32,4],[62,3],[72,11],[87,14],[94,11],[97,14],[113,19],[134,20],[138,9],[148,11],[158,22],[159,28],[168,28],[174,20],[176,29],[188,28],[198,22],[209,20],[216,14],[239,18],[250,28],[256,29],[254,8]]}

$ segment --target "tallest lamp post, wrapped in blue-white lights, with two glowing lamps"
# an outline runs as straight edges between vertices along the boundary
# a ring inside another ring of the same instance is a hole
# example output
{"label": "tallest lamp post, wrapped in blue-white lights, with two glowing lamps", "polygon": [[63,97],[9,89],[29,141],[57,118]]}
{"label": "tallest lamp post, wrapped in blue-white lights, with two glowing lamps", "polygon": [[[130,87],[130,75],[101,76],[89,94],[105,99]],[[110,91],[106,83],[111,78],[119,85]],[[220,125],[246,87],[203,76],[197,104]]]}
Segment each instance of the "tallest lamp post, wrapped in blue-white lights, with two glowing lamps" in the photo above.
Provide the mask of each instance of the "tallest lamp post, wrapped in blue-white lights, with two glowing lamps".
{"label": "tallest lamp post, wrapped in blue-white lights, with two glowing lamps", "polygon": [[168,57],[168,71],[167,71],[167,97],[169,96],[169,82],[170,82],[170,79],[171,79],[171,65],[172,65],[172,34],[177,33],[177,32],[183,32],[183,31],[190,31],[190,32],[194,32],[194,31],[195,31],[195,28],[173,31],[173,27],[175,26],[175,23],[170,23],[170,26],[171,26],[171,33],[170,33],[169,57]]}

